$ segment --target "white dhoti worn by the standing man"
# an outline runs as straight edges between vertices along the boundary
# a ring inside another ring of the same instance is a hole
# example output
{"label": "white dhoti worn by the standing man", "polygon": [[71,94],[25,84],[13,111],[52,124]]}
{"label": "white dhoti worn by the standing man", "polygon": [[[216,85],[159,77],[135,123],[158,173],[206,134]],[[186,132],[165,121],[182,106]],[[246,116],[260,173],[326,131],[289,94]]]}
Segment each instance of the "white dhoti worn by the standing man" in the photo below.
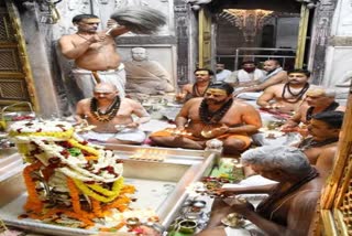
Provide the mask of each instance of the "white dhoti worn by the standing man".
{"label": "white dhoti worn by the standing man", "polygon": [[[84,97],[92,97],[94,88],[97,84],[97,79],[92,72],[82,68],[74,68],[72,73]],[[123,64],[120,64],[117,69],[97,71],[96,73],[99,76],[100,82],[117,86],[120,97],[124,97],[125,71]]]}

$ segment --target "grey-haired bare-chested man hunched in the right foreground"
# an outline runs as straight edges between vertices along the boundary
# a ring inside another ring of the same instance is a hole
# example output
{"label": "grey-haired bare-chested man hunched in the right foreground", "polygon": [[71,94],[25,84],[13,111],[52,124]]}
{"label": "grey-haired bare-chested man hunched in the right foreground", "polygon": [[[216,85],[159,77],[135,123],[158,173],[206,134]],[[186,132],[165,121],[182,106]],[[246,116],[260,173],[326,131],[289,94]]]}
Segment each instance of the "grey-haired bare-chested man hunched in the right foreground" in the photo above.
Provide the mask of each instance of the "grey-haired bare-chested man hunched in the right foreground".
{"label": "grey-haired bare-chested man hunched in the right foreground", "polygon": [[216,199],[208,229],[198,235],[235,235],[230,227],[221,226],[221,219],[231,213],[244,216],[264,232],[258,235],[309,235],[316,223],[317,201],[323,181],[307,157],[298,148],[265,146],[245,151],[241,161],[277,183],[228,189],[227,195],[267,193],[268,196],[256,207],[244,200]]}

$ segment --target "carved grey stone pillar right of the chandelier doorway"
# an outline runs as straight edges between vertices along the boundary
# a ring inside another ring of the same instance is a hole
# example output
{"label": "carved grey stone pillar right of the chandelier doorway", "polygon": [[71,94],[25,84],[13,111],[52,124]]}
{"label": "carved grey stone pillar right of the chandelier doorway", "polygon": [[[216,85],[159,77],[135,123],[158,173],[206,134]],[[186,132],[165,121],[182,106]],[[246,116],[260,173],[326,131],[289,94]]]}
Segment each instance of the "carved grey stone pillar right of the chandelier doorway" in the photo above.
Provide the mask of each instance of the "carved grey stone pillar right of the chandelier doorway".
{"label": "carved grey stone pillar right of the chandelier doorway", "polygon": [[310,49],[311,57],[308,66],[312,71],[314,84],[322,84],[323,81],[328,37],[337,2],[337,0],[321,0],[315,11],[315,28]]}

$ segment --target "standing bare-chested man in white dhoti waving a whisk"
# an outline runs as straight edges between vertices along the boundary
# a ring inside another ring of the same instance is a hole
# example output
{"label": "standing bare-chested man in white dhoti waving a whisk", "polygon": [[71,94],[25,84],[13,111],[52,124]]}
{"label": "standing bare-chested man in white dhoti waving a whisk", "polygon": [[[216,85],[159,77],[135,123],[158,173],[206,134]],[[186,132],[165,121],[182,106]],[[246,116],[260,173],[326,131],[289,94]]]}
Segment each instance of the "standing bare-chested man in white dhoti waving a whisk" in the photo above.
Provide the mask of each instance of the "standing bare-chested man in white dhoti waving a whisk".
{"label": "standing bare-chested man in white dhoti waving a whisk", "polygon": [[78,14],[73,23],[77,33],[62,36],[58,44],[64,56],[75,60],[73,76],[84,97],[91,97],[95,84],[100,82],[116,85],[120,96],[124,97],[125,75],[114,37],[129,30],[116,26],[116,22],[109,20],[110,29],[97,31],[100,20],[94,14]]}

